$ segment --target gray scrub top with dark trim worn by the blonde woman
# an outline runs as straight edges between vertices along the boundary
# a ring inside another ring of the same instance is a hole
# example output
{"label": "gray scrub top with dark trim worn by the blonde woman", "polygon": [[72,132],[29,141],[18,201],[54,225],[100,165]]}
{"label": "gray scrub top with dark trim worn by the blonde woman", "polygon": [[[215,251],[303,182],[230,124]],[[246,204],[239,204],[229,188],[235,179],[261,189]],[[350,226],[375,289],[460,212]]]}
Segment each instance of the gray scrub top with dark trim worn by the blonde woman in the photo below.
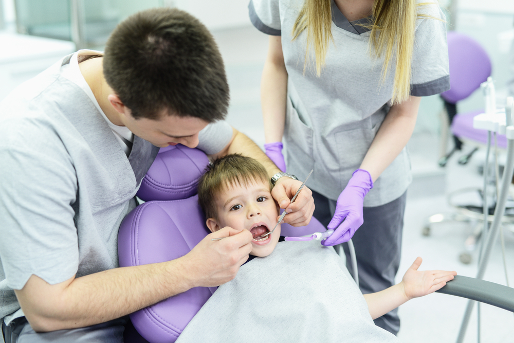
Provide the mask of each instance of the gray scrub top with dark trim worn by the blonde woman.
{"label": "gray scrub top with dark trim worn by the blonde woman", "polygon": [[[288,74],[284,131],[287,170],[300,179],[314,169],[307,186],[337,199],[359,168],[387,113],[395,67],[381,84],[382,58],[369,53],[370,31],[348,22],[332,2],[332,35],[320,77],[307,65],[306,32],[292,40],[303,0],[251,0],[250,19],[264,33],[282,36]],[[429,96],[450,88],[446,23],[434,3],[418,7],[412,60],[411,95]],[[365,19],[364,19],[365,20]],[[283,34],[282,34],[283,33]],[[314,52],[312,52],[314,55]],[[404,148],[364,198],[365,207],[387,204],[412,180]]]}

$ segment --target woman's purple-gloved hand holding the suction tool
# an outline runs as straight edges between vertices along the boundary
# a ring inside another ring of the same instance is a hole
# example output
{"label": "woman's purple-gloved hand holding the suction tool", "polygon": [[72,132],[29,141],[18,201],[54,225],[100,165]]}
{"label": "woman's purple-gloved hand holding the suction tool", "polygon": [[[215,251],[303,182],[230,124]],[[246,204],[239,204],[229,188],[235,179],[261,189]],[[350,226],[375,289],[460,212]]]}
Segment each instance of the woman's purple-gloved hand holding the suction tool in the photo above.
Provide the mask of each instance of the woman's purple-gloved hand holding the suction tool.
{"label": "woman's purple-gloved hand holding the suction tool", "polygon": [[364,196],[373,188],[373,179],[368,171],[357,169],[337,198],[336,212],[327,228],[335,230],[321,244],[336,245],[350,241],[355,231],[364,223],[362,207]]}

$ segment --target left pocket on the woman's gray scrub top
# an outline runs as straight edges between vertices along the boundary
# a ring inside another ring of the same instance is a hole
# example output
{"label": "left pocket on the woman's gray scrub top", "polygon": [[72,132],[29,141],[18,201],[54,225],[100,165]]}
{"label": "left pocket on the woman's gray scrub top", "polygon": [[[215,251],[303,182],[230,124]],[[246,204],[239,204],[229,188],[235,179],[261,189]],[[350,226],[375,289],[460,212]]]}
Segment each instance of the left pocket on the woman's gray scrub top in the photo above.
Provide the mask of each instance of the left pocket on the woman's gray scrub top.
{"label": "left pocket on the woman's gray scrub top", "polygon": [[[285,141],[287,148],[287,167],[291,172],[310,172],[314,168],[313,137],[314,131],[299,115],[289,96],[286,104]],[[298,170],[297,170],[298,169]]]}

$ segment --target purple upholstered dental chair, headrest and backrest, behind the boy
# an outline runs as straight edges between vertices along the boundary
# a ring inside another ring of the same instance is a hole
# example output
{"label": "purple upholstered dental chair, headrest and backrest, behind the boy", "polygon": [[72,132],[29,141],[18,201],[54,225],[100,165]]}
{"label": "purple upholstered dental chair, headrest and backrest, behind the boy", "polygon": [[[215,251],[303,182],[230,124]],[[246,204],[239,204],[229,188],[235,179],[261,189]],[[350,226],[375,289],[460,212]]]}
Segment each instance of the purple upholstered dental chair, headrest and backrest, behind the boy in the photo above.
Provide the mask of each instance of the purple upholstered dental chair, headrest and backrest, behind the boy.
{"label": "purple upholstered dental chair, headrest and backrest, behind the boy", "polygon": [[[186,255],[210,231],[196,188],[207,155],[182,145],[161,148],[141,182],[145,201],[127,214],[118,234],[120,267],[170,261]],[[304,227],[281,225],[282,236],[303,236],[326,228],[315,218]],[[174,342],[216,287],[195,287],[130,315],[128,343]],[[142,336],[142,337],[141,337]],[[144,337],[144,339],[143,339]]]}

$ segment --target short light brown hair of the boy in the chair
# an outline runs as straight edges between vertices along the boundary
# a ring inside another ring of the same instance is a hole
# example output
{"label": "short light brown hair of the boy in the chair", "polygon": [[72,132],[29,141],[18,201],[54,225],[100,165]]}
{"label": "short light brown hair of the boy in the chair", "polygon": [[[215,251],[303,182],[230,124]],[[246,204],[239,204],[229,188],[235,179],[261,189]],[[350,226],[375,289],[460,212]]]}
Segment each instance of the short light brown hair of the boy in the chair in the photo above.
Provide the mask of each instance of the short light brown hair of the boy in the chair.
{"label": "short light brown hair of the boy in the chair", "polygon": [[247,186],[253,182],[271,183],[264,166],[254,158],[231,154],[216,159],[206,168],[198,183],[198,204],[206,218],[217,219],[216,196],[227,186]]}

